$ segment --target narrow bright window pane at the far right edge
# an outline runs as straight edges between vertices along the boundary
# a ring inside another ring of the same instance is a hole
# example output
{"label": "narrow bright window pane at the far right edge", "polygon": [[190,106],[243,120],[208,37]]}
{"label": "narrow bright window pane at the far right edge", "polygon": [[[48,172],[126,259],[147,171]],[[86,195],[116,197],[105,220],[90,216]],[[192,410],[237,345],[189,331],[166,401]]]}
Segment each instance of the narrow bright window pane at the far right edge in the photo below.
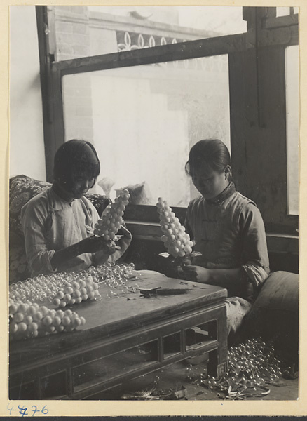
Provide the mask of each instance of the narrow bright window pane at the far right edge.
{"label": "narrow bright window pane at the far right edge", "polygon": [[288,213],[299,213],[299,46],[286,48]]}

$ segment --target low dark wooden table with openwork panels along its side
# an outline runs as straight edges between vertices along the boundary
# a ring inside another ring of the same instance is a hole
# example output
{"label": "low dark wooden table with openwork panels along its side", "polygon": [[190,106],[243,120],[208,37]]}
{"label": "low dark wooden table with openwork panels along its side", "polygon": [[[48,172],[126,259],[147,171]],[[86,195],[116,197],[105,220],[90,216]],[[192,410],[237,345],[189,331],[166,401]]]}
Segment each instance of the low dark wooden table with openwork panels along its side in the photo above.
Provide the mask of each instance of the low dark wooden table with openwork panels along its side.
{"label": "low dark wooden table with openwork panels along its side", "polygon": [[[189,356],[209,352],[210,375],[226,370],[227,291],[138,272],[139,288],[189,288],[180,295],[136,293],[71,307],[86,324],[71,333],[10,343],[10,399],[91,396]],[[197,327],[197,328],[196,328]],[[95,398],[93,398],[95,399]]]}

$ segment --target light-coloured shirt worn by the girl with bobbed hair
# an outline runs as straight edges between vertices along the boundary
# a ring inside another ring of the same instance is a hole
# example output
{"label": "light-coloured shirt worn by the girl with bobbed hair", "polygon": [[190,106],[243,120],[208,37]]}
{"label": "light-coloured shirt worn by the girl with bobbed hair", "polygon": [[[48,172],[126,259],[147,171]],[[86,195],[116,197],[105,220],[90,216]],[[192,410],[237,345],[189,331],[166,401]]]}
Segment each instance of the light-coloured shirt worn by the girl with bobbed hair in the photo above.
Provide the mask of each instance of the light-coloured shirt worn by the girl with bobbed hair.
{"label": "light-coloured shirt worn by the girl with bobbed hair", "polygon": [[[53,187],[34,196],[21,212],[25,234],[25,250],[32,276],[53,272],[78,272],[91,265],[99,265],[102,253],[83,253],[53,269],[50,260],[61,250],[93,235],[99,220],[97,210],[86,197],[71,203],[62,199]],[[127,231],[127,230],[126,230]],[[130,234],[130,233],[129,233]],[[109,257],[117,260],[128,248],[131,236],[123,236],[121,250]]]}

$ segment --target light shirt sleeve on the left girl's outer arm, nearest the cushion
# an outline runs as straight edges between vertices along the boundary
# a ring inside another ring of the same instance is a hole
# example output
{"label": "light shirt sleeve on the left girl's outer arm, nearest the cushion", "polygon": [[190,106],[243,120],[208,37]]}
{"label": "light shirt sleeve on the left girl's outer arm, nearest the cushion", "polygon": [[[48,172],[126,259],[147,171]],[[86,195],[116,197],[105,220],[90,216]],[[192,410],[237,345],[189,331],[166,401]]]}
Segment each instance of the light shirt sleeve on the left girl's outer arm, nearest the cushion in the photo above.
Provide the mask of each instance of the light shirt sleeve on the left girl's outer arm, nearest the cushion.
{"label": "light shirt sleeve on the left girl's outer arm, nearest the cushion", "polygon": [[32,273],[50,274],[55,269],[50,260],[55,250],[48,250],[44,235],[47,210],[44,203],[29,201],[21,211],[22,229],[25,235],[27,262]]}

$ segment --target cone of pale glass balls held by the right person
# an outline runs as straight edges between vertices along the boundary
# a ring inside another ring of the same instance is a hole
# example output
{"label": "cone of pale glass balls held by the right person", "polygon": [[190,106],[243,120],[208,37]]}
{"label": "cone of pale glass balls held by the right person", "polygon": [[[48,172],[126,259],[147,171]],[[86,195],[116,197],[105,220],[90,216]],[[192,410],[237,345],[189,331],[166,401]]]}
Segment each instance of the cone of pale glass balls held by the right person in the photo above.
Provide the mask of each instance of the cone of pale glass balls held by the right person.
{"label": "cone of pale glass balls held by the right person", "polygon": [[156,206],[163,232],[161,240],[168,249],[168,253],[174,258],[183,258],[185,255],[192,253],[193,241],[190,240],[189,234],[185,232],[185,228],[180,224],[175,213],[172,212],[172,208],[168,206],[168,202],[159,197]]}

